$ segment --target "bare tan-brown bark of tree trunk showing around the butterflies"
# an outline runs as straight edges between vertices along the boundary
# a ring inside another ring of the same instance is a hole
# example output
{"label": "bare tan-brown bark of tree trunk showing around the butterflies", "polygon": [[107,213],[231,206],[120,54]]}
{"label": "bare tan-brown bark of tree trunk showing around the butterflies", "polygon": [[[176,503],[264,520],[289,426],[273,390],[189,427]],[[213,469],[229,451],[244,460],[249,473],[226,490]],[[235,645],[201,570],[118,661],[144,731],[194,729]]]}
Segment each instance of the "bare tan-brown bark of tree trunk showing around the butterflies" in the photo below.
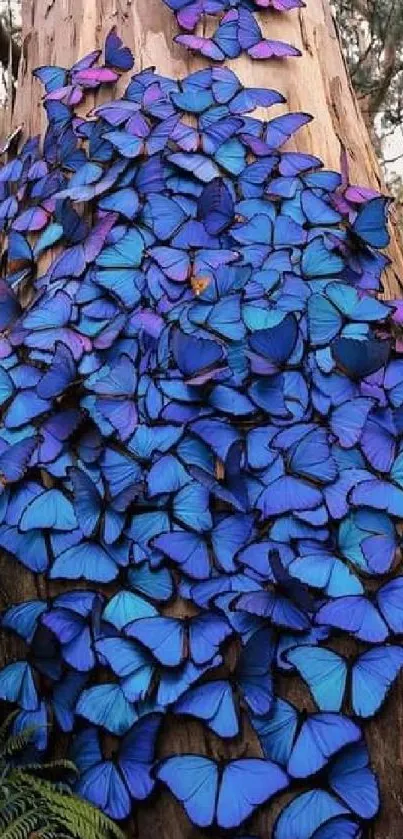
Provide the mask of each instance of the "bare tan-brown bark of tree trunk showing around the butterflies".
{"label": "bare tan-brown bark of tree trunk showing around the butterflies", "polygon": [[[44,127],[41,89],[32,79],[31,71],[43,64],[69,66],[79,56],[102,46],[105,34],[114,24],[133,49],[137,69],[156,65],[159,72],[180,78],[207,63],[173,43],[176,22],[161,0],[22,0],[22,5],[22,60],[14,122],[22,122],[28,134],[38,133]],[[313,153],[321,157],[327,167],[339,169],[342,143],[347,150],[351,181],[382,188],[379,166],[346,74],[328,0],[309,0],[306,9],[264,16],[260,23],[266,37],[289,41],[302,50],[302,57],[259,63],[242,56],[230,62],[230,66],[245,85],[276,88],[286,96],[287,109],[308,111],[314,116],[314,122],[298,133],[290,148]],[[403,255],[393,216],[391,227],[389,256],[392,266],[385,281],[388,297],[397,296],[403,285],[403,279],[399,279],[403,278]],[[6,576],[12,581],[8,592],[12,598],[14,570]],[[20,576],[23,593],[32,596],[28,575]],[[288,685],[290,682],[287,680]],[[308,707],[309,700],[302,696],[301,689],[292,690],[299,703],[302,701]],[[289,688],[287,695],[292,698]],[[169,724],[167,728],[162,753],[200,750],[220,758],[259,754],[256,739],[245,726],[243,736],[230,746],[210,733],[206,734],[205,728],[196,723],[175,722],[171,730]],[[401,688],[395,689],[386,712],[368,730],[383,797],[382,815],[368,836],[371,839],[400,839],[399,824],[403,819]],[[284,801],[283,797],[281,804]],[[276,810],[277,805],[263,808],[247,832],[268,839]],[[129,834],[139,839],[152,836],[199,839],[202,835],[190,827],[183,811],[166,794],[139,808]]]}

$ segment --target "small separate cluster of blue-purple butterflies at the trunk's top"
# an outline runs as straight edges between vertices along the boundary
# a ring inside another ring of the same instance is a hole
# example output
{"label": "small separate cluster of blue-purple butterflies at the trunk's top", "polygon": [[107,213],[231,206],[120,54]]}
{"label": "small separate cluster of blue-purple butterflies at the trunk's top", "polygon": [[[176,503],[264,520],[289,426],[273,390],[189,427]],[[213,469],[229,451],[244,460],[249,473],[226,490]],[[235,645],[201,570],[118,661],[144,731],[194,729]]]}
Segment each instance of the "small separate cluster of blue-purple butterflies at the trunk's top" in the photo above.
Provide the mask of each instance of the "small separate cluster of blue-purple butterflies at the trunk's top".
{"label": "small separate cluster of blue-purple butterflies at the trunk's top", "polygon": [[[268,58],[287,58],[301,55],[300,51],[285,43],[264,38],[253,12],[270,9],[288,11],[300,8],[302,0],[163,0],[175,12],[176,20],[185,34],[177,35],[176,43],[192,52],[225,61],[238,58],[245,52],[250,58],[262,61]],[[211,38],[195,33],[206,15],[219,17]]]}

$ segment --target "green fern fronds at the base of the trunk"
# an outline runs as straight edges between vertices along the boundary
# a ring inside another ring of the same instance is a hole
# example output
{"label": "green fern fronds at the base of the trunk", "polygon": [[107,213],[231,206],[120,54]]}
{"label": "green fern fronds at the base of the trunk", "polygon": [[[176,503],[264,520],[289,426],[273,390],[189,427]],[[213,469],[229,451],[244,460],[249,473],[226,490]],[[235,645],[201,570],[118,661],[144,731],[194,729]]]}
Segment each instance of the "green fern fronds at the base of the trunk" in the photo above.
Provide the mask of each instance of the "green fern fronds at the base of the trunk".
{"label": "green fern fronds at the base of the trunk", "polygon": [[70,761],[21,762],[33,730],[10,734],[13,719],[0,727],[0,839],[124,839],[117,825],[72,794]]}

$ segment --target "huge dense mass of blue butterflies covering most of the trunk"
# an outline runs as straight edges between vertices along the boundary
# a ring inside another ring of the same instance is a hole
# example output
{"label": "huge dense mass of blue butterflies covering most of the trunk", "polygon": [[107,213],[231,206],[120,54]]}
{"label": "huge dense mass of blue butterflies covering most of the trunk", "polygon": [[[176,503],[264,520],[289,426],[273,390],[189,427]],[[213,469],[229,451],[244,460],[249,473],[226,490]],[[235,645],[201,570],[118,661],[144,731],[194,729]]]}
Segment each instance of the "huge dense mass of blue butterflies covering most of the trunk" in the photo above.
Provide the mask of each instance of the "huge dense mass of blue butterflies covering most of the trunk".
{"label": "huge dense mass of blue butterflies covering most of the trunk", "polygon": [[[77,116],[133,63],[115,31],[98,59],[36,71],[43,149],[0,170],[0,546],[75,582],[4,610],[27,655],[0,698],[37,753],[50,721],[71,735],[78,792],[116,819],[165,784],[236,830],[291,789],[274,839],[359,839],[359,723],[403,666],[388,202],[283,151],[309,116],[255,119],[284,100],[227,68],[147,69]],[[167,714],[223,739],[248,718],[262,757],[158,761]]]}

